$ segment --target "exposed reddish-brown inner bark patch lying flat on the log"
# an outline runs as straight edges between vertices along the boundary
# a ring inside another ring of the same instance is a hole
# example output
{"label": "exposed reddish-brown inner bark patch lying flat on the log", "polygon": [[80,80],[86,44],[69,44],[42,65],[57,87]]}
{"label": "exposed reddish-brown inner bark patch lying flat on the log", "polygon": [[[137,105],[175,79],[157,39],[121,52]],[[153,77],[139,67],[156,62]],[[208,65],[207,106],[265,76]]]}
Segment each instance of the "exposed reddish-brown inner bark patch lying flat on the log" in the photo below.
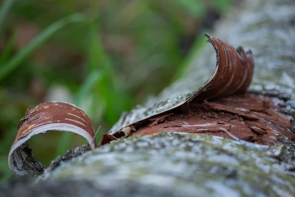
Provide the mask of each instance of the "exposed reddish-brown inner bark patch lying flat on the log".
{"label": "exposed reddish-brown inner bark patch lying flat on the log", "polygon": [[[168,114],[150,118],[131,135],[162,131],[200,133],[273,145],[277,135],[295,141],[291,117],[279,106],[283,100],[245,93],[214,101],[189,102]],[[229,134],[229,133],[230,134]]]}

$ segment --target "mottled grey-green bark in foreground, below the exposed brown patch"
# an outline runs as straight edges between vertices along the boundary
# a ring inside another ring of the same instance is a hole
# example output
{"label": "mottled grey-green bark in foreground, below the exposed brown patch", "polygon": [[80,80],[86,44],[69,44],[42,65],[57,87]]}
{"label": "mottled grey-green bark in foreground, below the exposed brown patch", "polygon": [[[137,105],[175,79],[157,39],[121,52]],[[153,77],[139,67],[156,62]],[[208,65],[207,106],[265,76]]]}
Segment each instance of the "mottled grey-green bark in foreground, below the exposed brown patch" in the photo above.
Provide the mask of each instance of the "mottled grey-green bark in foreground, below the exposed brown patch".
{"label": "mottled grey-green bark in foreground, below the exposed brown patch", "polygon": [[[266,146],[182,133],[129,137],[63,162],[38,182],[91,181],[98,188],[114,190],[112,195],[115,190],[127,190],[123,187],[138,187],[180,196],[291,197],[295,193],[294,144],[284,136],[281,139],[281,145]],[[146,190],[138,192],[144,195]]]}

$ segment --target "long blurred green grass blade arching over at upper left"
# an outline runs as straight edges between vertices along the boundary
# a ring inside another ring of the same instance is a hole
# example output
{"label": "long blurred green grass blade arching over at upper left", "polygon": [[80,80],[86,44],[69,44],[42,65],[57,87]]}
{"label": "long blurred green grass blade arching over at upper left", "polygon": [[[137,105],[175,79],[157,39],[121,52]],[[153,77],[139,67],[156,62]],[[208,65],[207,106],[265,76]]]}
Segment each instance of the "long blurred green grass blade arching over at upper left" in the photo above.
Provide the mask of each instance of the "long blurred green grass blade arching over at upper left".
{"label": "long blurred green grass blade arching over at upper left", "polygon": [[36,38],[34,38],[24,49],[15,54],[7,64],[0,67],[0,80],[6,77],[10,72],[17,68],[20,63],[27,58],[37,47],[43,44],[50,36],[56,33],[60,28],[69,23],[86,22],[86,18],[83,14],[72,14],[66,16],[50,26],[48,26],[43,32],[41,32]]}

